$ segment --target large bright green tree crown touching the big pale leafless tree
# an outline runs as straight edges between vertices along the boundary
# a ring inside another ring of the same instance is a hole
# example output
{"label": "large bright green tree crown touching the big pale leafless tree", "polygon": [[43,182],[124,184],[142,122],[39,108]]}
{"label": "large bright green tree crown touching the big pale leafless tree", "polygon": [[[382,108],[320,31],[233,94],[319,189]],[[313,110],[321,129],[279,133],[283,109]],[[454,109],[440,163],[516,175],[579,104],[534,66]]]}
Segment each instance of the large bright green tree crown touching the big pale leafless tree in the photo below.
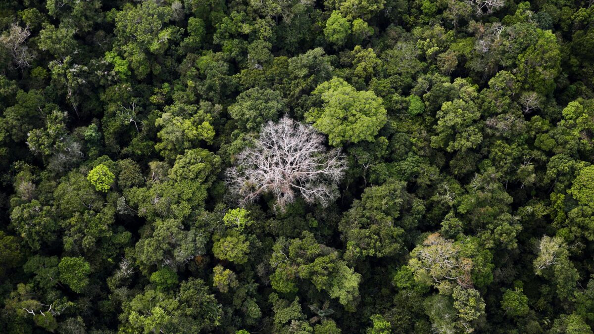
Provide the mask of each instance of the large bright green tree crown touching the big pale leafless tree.
{"label": "large bright green tree crown touching the big pale leafless tree", "polygon": [[313,94],[323,101],[323,106],[310,109],[305,118],[328,135],[332,146],[373,141],[386,124],[387,112],[381,97],[374,92],[358,92],[341,78],[320,84]]}

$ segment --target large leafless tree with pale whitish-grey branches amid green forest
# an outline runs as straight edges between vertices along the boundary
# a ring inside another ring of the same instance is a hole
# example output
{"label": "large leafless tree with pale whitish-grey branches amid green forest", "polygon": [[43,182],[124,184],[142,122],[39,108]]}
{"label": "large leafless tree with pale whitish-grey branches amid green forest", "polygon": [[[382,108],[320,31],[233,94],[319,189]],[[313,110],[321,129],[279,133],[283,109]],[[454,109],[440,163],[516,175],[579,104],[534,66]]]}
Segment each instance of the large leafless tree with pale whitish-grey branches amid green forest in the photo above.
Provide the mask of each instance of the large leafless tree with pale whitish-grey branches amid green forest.
{"label": "large leafless tree with pale whitish-grey branches amid green forest", "polygon": [[275,210],[284,211],[298,194],[307,203],[328,206],[338,196],[336,184],[346,163],[340,149],[328,151],[323,141],[311,125],[287,116],[276,124],[268,122],[260,138],[228,169],[230,189],[242,197],[242,204],[271,193],[276,197]]}

